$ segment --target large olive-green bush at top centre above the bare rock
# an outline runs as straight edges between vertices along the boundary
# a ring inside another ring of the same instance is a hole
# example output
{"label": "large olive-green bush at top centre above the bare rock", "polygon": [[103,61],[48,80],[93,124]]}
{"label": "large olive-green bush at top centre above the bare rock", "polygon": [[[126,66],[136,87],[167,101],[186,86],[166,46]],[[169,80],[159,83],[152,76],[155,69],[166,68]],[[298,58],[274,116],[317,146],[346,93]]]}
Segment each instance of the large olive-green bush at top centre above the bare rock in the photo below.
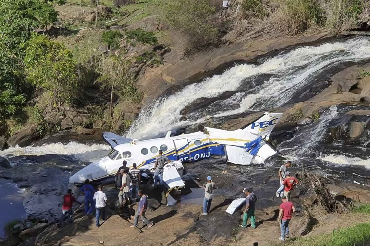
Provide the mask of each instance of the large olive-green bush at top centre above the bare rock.
{"label": "large olive-green bush at top centre above the bare rock", "polygon": [[162,0],[164,20],[182,31],[190,46],[203,47],[218,41],[219,31],[213,25],[215,8],[209,0]]}

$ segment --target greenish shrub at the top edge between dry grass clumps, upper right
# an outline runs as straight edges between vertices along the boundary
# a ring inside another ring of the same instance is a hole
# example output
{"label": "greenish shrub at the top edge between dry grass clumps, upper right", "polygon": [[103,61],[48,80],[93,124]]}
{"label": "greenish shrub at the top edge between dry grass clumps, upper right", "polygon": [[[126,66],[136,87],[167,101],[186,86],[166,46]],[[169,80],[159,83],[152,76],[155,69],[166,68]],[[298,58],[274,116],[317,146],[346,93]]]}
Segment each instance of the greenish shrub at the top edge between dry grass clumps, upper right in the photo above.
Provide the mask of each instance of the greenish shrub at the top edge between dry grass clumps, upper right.
{"label": "greenish shrub at the top edge between dry grass clumps, upper right", "polygon": [[279,3],[276,24],[284,34],[296,35],[310,25],[323,24],[323,10],[316,0],[279,0]]}

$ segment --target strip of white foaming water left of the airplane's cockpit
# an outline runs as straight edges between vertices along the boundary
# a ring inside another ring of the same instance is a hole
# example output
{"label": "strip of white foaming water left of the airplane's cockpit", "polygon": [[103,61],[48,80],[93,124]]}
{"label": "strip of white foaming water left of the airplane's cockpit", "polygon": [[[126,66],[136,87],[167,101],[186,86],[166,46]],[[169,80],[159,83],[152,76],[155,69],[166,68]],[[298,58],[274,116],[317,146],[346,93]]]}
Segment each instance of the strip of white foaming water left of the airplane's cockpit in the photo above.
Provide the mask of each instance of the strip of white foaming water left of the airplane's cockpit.
{"label": "strip of white foaming water left of the airplane's cockpit", "polygon": [[63,154],[73,155],[76,159],[86,162],[93,162],[110,150],[110,146],[104,144],[86,145],[76,142],[68,144],[52,143],[43,146],[27,146],[27,147],[10,147],[4,151],[0,151],[0,156],[12,157],[20,155],[45,155],[45,154]]}

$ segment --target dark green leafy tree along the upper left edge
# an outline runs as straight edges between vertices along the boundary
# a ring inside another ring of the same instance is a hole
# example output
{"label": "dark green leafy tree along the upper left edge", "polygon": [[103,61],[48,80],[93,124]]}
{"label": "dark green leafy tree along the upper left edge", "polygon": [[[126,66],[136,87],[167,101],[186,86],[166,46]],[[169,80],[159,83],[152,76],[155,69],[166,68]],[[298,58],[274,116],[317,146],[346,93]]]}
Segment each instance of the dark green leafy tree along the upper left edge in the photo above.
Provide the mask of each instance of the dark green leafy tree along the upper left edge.
{"label": "dark green leafy tree along the upper left edge", "polygon": [[32,93],[23,74],[24,48],[31,32],[56,21],[57,16],[39,0],[0,0],[0,126]]}

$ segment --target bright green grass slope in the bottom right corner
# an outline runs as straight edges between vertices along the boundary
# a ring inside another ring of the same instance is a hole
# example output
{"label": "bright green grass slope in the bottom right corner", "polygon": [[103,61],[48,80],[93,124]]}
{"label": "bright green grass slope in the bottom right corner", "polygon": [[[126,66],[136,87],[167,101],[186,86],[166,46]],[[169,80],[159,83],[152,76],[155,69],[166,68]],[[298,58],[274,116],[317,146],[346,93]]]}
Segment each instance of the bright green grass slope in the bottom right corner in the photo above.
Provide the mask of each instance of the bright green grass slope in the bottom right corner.
{"label": "bright green grass slope in the bottom right corner", "polygon": [[288,241],[284,245],[294,246],[350,246],[368,245],[370,242],[370,223],[333,230],[332,233],[302,237]]}

